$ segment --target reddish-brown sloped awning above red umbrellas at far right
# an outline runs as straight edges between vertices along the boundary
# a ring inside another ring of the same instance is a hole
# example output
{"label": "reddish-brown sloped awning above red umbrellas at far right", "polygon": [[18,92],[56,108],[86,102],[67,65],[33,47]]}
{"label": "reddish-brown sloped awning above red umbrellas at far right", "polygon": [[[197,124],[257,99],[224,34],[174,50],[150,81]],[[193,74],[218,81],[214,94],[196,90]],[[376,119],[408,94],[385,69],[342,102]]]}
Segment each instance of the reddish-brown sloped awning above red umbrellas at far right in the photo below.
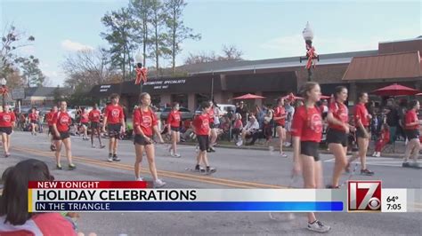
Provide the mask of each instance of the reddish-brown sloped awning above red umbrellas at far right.
{"label": "reddish-brown sloped awning above red umbrellas at far right", "polygon": [[356,57],[347,67],[343,80],[411,79],[422,77],[419,51]]}

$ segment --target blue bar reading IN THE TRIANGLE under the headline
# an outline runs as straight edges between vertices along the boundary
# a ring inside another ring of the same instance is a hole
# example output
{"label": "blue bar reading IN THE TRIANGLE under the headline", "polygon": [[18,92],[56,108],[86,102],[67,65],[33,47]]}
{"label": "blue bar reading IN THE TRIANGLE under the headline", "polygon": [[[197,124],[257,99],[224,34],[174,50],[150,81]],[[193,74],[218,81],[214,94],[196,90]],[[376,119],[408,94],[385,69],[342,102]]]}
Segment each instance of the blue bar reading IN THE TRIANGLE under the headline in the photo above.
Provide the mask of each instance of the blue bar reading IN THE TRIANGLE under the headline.
{"label": "blue bar reading IN THE TRIANGLE under the headline", "polygon": [[37,211],[343,211],[342,201],[37,202]]}

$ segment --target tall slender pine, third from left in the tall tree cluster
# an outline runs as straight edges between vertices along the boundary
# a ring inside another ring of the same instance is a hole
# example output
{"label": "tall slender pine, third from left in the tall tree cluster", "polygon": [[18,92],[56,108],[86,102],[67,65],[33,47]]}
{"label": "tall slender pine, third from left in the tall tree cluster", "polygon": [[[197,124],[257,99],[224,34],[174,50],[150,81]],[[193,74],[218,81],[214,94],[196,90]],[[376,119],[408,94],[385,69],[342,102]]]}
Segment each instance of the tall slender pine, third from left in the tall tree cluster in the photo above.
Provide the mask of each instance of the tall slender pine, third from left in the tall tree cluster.
{"label": "tall slender pine, third from left in the tall tree cluster", "polygon": [[167,47],[167,34],[164,32],[166,24],[167,12],[163,4],[158,0],[151,0],[151,28],[152,35],[150,37],[150,58],[155,60],[156,75],[159,75],[159,58],[170,54]]}

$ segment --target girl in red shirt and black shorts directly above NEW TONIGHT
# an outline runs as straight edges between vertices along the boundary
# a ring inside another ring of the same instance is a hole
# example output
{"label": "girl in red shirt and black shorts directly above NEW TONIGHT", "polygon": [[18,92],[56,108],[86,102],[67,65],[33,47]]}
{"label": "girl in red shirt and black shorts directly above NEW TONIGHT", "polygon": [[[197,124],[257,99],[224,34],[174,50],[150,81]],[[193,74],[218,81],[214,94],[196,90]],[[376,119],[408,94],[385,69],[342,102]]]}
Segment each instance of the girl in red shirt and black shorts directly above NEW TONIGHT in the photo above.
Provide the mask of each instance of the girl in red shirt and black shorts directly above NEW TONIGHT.
{"label": "girl in red shirt and black shorts directly above NEW TONIGHT", "polygon": [[61,101],[60,110],[53,116],[53,132],[54,140],[56,146],[56,167],[57,169],[61,168],[61,144],[64,144],[66,150],[66,157],[68,158],[69,169],[76,169],[77,167],[73,164],[72,161],[72,152],[71,152],[71,143],[69,135],[69,126],[72,122],[68,111],[68,104],[66,101]]}

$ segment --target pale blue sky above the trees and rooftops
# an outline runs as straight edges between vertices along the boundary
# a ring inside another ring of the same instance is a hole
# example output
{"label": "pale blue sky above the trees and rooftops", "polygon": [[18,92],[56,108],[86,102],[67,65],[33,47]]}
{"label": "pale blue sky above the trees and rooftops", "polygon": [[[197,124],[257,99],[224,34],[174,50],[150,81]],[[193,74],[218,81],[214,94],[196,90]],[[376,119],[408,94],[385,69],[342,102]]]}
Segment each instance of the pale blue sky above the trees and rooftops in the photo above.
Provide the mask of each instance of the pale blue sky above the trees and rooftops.
{"label": "pale blue sky above the trees and rooftops", "polygon": [[[177,65],[192,53],[223,44],[243,51],[243,59],[302,56],[302,30],[311,24],[319,54],[377,50],[377,43],[422,35],[422,1],[193,0],[183,12],[185,25],[201,35],[186,40]],[[81,49],[108,47],[101,17],[125,0],[0,0],[0,26],[13,23],[36,41],[20,50],[34,55],[49,78],[63,85],[64,57]],[[170,66],[170,61],[161,65]]]}

